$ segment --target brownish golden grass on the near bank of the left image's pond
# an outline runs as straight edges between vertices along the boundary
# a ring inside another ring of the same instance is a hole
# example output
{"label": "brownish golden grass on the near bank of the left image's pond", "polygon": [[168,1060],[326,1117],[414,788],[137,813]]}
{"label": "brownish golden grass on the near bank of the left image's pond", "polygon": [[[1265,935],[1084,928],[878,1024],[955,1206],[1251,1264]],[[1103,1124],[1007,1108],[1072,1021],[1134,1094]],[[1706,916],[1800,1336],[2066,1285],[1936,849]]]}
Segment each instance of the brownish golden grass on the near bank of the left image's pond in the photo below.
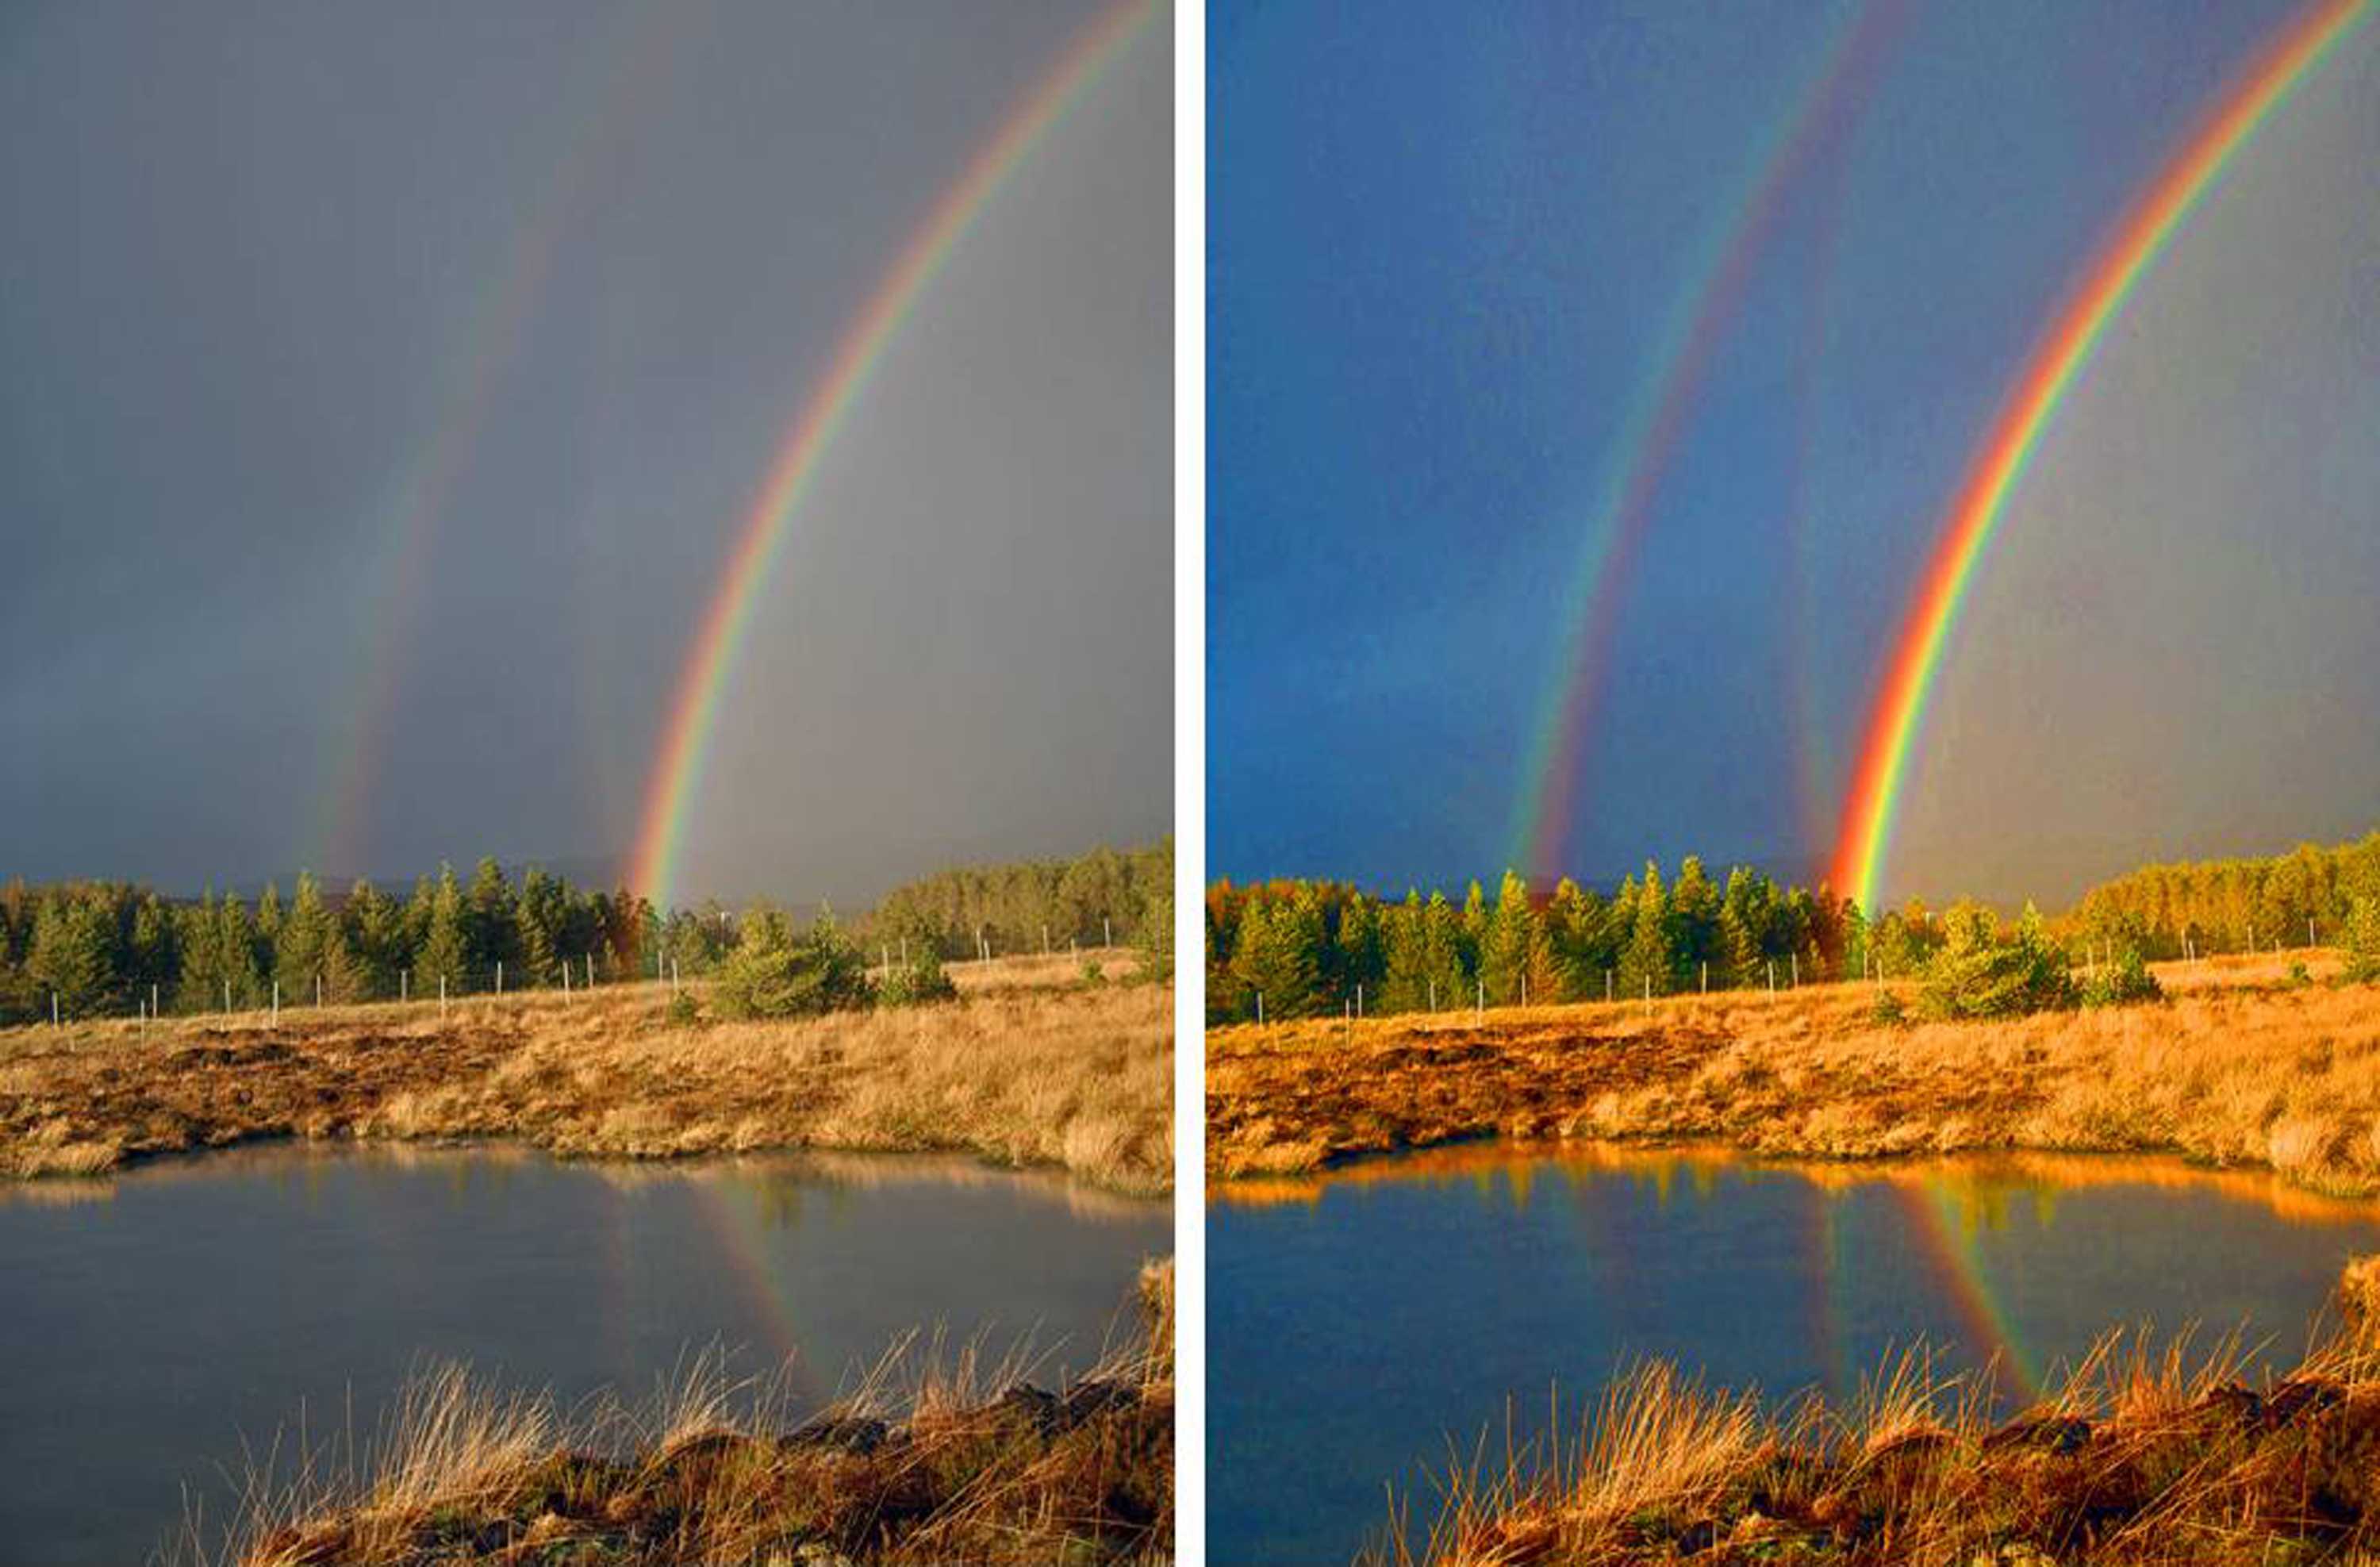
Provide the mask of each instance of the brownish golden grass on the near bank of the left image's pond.
{"label": "brownish golden grass on the near bank of the left image's pond", "polygon": [[[800,1565],[1081,1567],[1173,1546],[1171,1262],[1140,1331],[1040,1391],[1021,1357],[897,1343],[807,1419],[781,1388],[700,1360],[645,1410],[559,1417],[462,1369],[416,1381],[371,1455],[252,1488],[228,1550],[193,1524],[181,1560],[240,1567]],[[750,1412],[738,1412],[750,1410]]]}

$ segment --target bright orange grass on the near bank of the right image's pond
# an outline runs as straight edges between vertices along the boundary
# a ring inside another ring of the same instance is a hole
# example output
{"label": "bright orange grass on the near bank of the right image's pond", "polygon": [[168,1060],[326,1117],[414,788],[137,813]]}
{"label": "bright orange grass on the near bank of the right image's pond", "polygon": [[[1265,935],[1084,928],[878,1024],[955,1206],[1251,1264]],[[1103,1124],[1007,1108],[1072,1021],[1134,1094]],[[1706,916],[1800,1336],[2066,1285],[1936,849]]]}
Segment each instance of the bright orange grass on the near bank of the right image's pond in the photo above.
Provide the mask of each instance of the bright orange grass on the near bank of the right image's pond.
{"label": "bright orange grass on the near bank of the right image's pond", "polygon": [[1980,1376],[1904,1355],[1842,1410],[1761,1410],[1666,1365],[1576,1441],[1459,1467],[1373,1567],[2368,1562],[2380,1550],[2380,1348],[2344,1336],[2249,1386],[2237,1343],[2111,1334],[1997,1419]]}

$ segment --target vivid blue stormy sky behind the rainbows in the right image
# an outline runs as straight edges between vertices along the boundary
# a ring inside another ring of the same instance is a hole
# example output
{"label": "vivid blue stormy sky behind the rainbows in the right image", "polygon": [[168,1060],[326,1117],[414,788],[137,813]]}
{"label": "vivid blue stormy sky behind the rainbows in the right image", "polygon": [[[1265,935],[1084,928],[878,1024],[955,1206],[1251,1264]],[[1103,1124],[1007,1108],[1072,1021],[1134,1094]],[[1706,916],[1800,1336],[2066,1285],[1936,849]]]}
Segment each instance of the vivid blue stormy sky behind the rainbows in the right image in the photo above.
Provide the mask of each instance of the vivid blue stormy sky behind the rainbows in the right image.
{"label": "vivid blue stormy sky behind the rainbows in the right image", "polygon": [[[1216,0],[1209,874],[1818,874],[1992,417],[2292,14]],[[1533,862],[1583,550],[1680,302],[1837,57],[1645,448],[1666,462]],[[2373,167],[2366,24],[2185,221],[2016,486],[1887,900],[2056,907],[2149,857],[2380,824]]]}

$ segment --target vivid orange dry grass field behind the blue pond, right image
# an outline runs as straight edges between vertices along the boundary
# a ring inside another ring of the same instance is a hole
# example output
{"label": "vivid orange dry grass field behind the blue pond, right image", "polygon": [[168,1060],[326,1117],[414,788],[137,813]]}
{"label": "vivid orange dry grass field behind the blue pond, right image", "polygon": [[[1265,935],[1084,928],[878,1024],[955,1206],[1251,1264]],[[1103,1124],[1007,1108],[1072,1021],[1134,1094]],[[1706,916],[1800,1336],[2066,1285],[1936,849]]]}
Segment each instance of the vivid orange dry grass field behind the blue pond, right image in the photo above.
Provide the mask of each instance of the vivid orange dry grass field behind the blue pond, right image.
{"label": "vivid orange dry grass field behind the blue pond, right image", "polygon": [[1837,984],[1219,1029],[1207,1169],[1280,1176],[1507,1136],[1797,1157],[2178,1153],[2368,1195],[2380,988],[2332,986],[2337,967],[2323,950],[2166,964],[2163,1000],[2009,1022],[1878,1022],[1875,986]]}

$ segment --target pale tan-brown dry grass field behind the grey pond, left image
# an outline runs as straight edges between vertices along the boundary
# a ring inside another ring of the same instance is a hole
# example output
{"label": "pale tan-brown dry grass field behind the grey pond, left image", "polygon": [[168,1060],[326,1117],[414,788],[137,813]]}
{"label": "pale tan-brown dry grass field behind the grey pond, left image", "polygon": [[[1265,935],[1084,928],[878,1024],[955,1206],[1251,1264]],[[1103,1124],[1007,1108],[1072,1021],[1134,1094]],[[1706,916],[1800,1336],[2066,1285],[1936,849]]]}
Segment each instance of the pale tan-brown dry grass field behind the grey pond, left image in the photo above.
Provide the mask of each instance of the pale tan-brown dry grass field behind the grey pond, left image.
{"label": "pale tan-brown dry grass field behind the grey pond, left image", "polygon": [[[0,1174],[250,1138],[519,1138],[562,1155],[950,1150],[1130,1193],[1173,1172],[1173,991],[1073,957],[952,969],[959,1000],[669,1022],[669,986],[0,1031]],[[695,988],[700,995],[700,988]]]}

